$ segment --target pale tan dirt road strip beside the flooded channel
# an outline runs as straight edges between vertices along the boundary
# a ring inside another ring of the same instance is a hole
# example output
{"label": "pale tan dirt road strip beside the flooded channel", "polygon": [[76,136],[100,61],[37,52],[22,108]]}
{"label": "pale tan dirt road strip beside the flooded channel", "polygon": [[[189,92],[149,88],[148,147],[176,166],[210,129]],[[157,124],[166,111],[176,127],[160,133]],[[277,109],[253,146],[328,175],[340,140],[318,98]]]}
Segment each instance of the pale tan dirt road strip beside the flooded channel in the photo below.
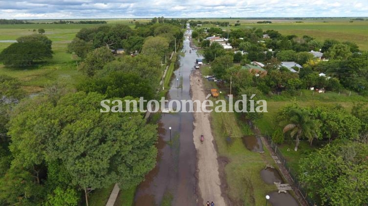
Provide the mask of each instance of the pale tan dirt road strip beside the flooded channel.
{"label": "pale tan dirt road strip beside the flooded channel", "polygon": [[[199,81],[198,81],[199,80]],[[199,100],[201,103],[206,99],[203,91],[203,78],[199,70],[191,74],[191,92],[192,100]],[[194,107],[196,108],[196,106]],[[202,109],[203,111],[203,109]],[[201,197],[205,204],[207,201],[213,201],[216,206],[226,206],[225,200],[221,194],[221,182],[218,172],[217,152],[212,136],[210,113],[195,112],[193,138],[195,149],[197,150],[198,164],[198,186]],[[204,142],[201,144],[200,135],[203,133]]]}

